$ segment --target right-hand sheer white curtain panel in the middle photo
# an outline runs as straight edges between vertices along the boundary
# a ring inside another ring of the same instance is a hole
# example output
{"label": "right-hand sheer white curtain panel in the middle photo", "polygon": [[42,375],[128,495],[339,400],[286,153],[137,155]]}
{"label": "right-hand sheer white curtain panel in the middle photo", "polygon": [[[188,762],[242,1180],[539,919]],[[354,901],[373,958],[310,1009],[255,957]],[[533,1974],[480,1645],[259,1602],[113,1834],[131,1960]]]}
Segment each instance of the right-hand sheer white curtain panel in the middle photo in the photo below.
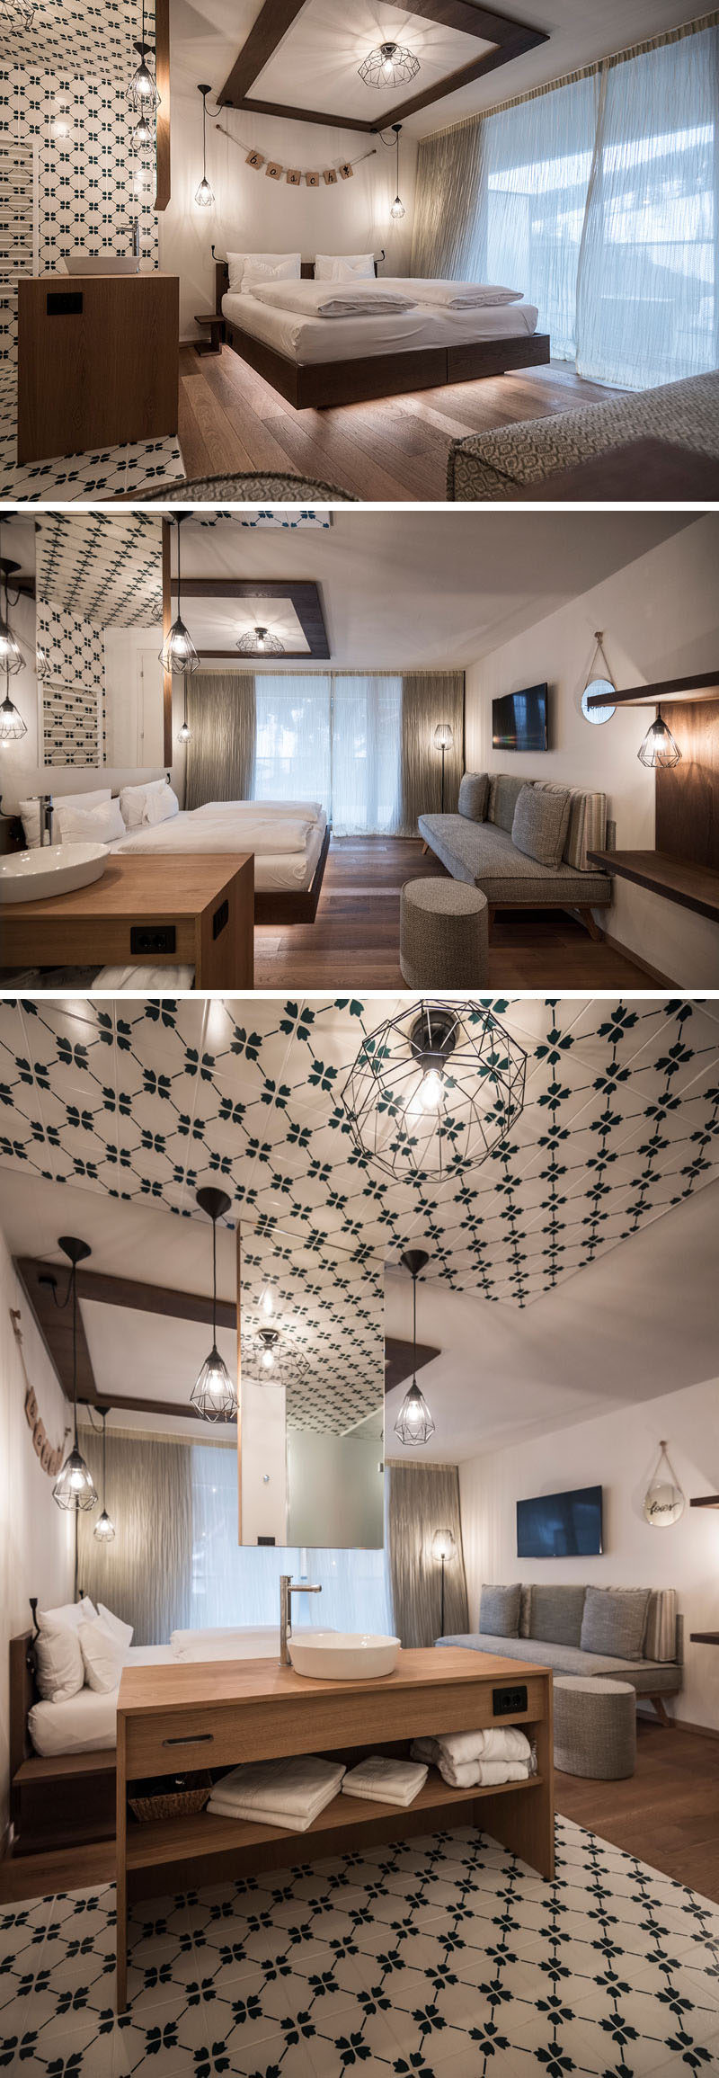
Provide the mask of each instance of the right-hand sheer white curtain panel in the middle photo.
{"label": "right-hand sheer white curtain panel in the middle photo", "polygon": [[399,825],[401,677],[335,677],[332,829],[382,835]]}

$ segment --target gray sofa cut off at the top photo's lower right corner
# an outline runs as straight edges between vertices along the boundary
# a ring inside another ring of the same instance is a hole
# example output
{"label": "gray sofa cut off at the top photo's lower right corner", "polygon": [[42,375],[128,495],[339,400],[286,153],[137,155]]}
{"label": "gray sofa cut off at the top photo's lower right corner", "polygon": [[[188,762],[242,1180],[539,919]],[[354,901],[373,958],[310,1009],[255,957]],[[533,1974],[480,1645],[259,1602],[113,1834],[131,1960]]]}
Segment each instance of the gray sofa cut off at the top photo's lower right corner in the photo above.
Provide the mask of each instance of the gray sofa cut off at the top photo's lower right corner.
{"label": "gray sofa cut off at the top photo's lower right corner", "polygon": [[[661,389],[607,403],[584,403],[578,411],[520,420],[495,432],[470,432],[453,441],[447,457],[449,499],[511,499],[517,484],[540,484],[555,470],[571,470],[609,447],[655,436],[698,455],[719,455],[719,370],[663,382]],[[636,486],[642,497],[642,484]]]}

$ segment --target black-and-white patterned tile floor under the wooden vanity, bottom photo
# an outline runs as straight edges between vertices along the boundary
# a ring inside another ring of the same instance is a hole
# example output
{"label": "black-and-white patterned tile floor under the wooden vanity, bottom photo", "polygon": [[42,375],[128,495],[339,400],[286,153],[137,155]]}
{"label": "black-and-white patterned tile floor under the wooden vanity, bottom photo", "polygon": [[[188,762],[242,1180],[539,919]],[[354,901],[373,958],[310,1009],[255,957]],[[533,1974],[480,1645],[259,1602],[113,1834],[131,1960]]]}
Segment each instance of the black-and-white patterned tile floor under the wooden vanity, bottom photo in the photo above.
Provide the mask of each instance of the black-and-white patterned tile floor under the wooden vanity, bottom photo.
{"label": "black-and-white patterned tile floor under the wooden vanity, bottom photo", "polygon": [[719,1912],[557,1820],[557,1881],[480,1833],[135,1908],[0,1916],[0,2070],[50,2078],[684,2078],[719,2072]]}

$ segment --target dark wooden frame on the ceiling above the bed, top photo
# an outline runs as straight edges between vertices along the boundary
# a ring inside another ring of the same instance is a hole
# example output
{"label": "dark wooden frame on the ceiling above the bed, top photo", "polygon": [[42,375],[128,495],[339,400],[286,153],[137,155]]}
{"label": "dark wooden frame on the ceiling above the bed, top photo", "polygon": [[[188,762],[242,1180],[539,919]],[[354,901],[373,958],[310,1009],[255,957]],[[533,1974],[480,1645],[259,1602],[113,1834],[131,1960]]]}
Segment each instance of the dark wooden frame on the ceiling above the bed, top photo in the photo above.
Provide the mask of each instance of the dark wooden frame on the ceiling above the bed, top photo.
{"label": "dark wooden frame on the ceiling above the bed, top photo", "polygon": [[482,44],[492,44],[492,50],[482,50],[482,56],[474,58],[470,64],[447,73],[436,79],[434,85],[414,94],[409,100],[397,102],[395,108],[387,108],[380,121],[364,123],[357,116],[320,114],[312,108],[293,108],[285,102],[262,102],[251,98],[251,87],[268,60],[278,50],[278,44],[299,19],[308,0],[264,0],[258,21],[249,29],[245,44],[229,73],[224,87],[220,91],[220,104],[224,108],[245,108],[256,114],[285,116],[285,121],[295,123],[328,123],[337,129],[360,129],[368,131],[372,137],[378,131],[391,129],[393,123],[405,123],[418,108],[426,108],[432,102],[445,100],[447,94],[457,94],[459,87],[472,85],[474,79],[482,79],[484,73],[497,71],[501,64],[509,64],[511,58],[522,58],[524,52],[534,50],[538,44],[549,42],[547,29],[528,29],[520,21],[511,21],[507,15],[497,15],[495,8],[474,6],[472,0],[405,0],[407,15],[416,15],[420,21],[430,21],[441,29],[455,29],[461,35],[474,35]]}

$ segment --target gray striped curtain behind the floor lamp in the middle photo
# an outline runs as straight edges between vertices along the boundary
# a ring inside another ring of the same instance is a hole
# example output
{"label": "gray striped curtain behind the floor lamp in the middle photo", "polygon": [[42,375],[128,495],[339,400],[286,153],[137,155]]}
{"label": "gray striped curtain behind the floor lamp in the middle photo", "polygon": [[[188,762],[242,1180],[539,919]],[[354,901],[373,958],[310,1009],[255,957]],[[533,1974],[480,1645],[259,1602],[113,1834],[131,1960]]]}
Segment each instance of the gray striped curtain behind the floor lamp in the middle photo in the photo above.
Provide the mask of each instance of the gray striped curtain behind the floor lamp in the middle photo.
{"label": "gray striped curtain behind the floor lamp in the middle photo", "polygon": [[401,682],[401,817],[399,831],[418,835],[418,815],[438,815],[443,754],[434,746],[438,721],[449,721],[453,748],[445,752],[445,812],[457,808],[463,773],[463,671],[405,671]]}

